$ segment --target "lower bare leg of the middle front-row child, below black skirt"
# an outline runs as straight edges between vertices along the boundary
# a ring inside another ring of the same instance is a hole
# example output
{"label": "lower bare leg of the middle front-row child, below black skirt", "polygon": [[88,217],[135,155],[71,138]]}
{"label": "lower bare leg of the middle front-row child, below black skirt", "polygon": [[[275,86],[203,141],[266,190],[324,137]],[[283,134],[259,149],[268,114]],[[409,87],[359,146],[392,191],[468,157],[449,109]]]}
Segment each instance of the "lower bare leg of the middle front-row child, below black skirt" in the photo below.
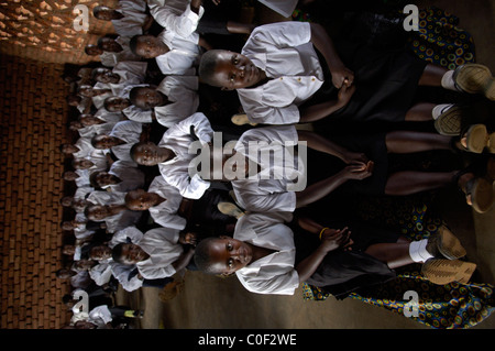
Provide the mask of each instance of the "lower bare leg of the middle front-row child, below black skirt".
{"label": "lower bare leg of the middle front-row child, below black skirt", "polygon": [[452,182],[454,172],[416,172],[405,171],[391,175],[385,185],[385,194],[392,196],[406,196],[420,191],[438,189]]}

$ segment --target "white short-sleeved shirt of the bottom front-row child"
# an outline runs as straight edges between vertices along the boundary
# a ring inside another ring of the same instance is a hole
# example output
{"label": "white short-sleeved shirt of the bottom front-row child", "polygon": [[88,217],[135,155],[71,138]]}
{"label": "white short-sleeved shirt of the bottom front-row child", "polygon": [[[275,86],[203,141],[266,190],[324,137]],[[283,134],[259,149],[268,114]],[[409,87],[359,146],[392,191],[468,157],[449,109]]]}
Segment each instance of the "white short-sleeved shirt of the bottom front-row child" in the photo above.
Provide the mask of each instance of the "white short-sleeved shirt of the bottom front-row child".
{"label": "white short-sleeved shirt of the bottom front-row child", "polygon": [[294,233],[284,222],[287,212],[248,213],[235,224],[233,238],[253,245],[275,250],[235,272],[239,282],[251,293],[294,295],[299,275],[294,265]]}

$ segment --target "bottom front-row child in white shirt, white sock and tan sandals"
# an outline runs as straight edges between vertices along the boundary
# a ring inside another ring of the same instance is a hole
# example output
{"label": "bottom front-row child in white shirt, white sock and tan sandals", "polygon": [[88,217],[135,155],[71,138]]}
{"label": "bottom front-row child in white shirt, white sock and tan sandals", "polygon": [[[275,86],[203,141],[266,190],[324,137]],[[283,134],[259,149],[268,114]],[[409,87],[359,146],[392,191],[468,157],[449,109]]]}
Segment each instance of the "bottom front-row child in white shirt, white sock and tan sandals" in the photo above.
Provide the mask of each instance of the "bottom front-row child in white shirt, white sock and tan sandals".
{"label": "bottom front-row child in white shirt, white sock and tan sandals", "polygon": [[307,282],[337,296],[392,279],[393,270],[407,264],[422,263],[422,274],[441,285],[468,283],[476,266],[459,260],[465,250],[448,229],[437,240],[409,242],[381,230],[371,237],[367,228],[331,229],[300,219],[299,226],[320,241],[309,253],[298,252],[293,230],[285,223],[290,217],[284,212],[241,217],[233,238],[205,239],[197,245],[196,265],[210,274],[235,274],[252,293],[294,295]]}

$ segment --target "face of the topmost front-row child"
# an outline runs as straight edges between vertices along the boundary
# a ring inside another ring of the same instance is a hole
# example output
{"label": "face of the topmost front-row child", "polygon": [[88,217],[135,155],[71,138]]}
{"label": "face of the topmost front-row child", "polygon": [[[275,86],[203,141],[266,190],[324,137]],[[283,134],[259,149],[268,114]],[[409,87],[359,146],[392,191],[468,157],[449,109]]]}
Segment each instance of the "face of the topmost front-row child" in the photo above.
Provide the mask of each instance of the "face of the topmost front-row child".
{"label": "face of the topmost front-row child", "polygon": [[222,51],[217,58],[215,80],[227,90],[249,88],[261,80],[260,69],[239,53]]}

